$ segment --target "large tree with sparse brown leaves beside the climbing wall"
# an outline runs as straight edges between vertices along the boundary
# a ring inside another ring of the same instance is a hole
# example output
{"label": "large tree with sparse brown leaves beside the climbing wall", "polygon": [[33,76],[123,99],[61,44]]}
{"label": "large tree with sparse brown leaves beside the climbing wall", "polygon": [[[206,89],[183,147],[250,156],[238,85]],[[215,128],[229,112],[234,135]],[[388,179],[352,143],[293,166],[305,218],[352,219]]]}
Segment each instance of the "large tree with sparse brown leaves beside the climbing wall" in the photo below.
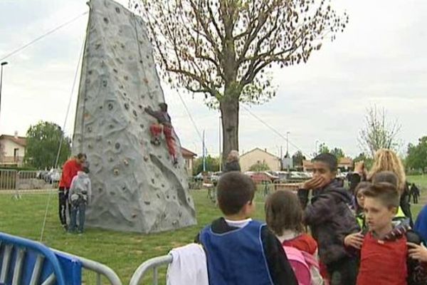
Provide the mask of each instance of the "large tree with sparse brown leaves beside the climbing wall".
{"label": "large tree with sparse brown leaves beside the climbing wall", "polygon": [[219,108],[223,154],[238,150],[240,103],[275,95],[273,64],[307,62],[348,23],[325,0],[130,0],[147,22],[161,76]]}

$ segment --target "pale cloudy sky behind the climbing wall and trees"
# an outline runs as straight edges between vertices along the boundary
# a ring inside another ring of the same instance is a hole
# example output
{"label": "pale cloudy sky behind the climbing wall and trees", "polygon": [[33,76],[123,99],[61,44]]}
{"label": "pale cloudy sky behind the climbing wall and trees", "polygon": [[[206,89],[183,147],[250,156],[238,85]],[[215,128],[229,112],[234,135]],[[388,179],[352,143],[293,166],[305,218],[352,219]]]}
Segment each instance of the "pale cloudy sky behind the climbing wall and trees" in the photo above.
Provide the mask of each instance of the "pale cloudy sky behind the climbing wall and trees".
{"label": "pale cloudy sky behind the climbing wall and trees", "polygon": [[[46,31],[88,11],[84,0],[1,0],[0,58]],[[122,4],[126,0],[119,1]],[[427,135],[427,1],[332,0],[347,11],[349,26],[333,43],[301,66],[273,70],[277,97],[250,108],[278,133],[290,132],[290,152],[315,149],[315,141],[360,152],[357,135],[366,108],[384,107],[401,123],[407,145]],[[88,15],[6,59],[1,94],[0,133],[25,135],[31,124],[49,120],[63,125]],[[201,154],[201,140],[176,91],[163,84],[176,132],[184,147]],[[208,151],[218,154],[218,112],[203,100],[182,94]],[[77,86],[65,131],[73,133]],[[241,151],[267,148],[278,154],[286,142],[241,110]],[[404,151],[404,148],[402,151]]]}

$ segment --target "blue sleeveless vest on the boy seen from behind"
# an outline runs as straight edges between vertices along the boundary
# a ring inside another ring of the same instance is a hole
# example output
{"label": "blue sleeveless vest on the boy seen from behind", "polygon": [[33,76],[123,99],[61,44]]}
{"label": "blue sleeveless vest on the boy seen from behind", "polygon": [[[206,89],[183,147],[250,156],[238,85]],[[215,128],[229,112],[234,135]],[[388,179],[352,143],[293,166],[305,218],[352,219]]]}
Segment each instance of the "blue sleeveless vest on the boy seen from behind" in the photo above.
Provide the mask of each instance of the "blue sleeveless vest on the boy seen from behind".
{"label": "blue sleeveless vest on the boy seen from behind", "polygon": [[246,227],[224,234],[205,227],[200,241],[206,249],[209,285],[272,285],[261,242],[265,224],[249,222]]}

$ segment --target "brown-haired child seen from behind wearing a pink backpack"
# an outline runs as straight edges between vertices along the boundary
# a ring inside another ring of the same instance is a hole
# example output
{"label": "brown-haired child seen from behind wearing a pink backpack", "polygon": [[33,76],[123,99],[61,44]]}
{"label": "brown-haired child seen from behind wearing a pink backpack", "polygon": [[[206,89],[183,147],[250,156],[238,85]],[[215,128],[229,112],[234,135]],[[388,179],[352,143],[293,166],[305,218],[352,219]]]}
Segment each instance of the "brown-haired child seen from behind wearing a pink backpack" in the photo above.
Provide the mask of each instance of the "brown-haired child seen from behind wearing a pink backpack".
{"label": "brown-haired child seen from behind wearing a pink backpack", "polygon": [[265,202],[265,221],[285,249],[299,284],[323,284],[317,261],[317,242],[305,233],[302,207],[291,191],[277,191]]}

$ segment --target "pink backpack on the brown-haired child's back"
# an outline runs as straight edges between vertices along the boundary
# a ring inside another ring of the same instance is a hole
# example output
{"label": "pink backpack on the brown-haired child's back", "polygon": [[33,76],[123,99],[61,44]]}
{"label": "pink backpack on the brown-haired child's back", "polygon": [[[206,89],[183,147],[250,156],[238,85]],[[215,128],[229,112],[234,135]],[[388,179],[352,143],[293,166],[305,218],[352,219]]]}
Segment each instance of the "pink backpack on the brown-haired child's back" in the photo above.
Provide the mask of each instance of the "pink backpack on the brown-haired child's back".
{"label": "pink backpack on the brown-haired child's back", "polygon": [[323,279],[319,271],[319,263],[307,252],[295,247],[283,247],[290,266],[297,277],[298,285],[322,285]]}

